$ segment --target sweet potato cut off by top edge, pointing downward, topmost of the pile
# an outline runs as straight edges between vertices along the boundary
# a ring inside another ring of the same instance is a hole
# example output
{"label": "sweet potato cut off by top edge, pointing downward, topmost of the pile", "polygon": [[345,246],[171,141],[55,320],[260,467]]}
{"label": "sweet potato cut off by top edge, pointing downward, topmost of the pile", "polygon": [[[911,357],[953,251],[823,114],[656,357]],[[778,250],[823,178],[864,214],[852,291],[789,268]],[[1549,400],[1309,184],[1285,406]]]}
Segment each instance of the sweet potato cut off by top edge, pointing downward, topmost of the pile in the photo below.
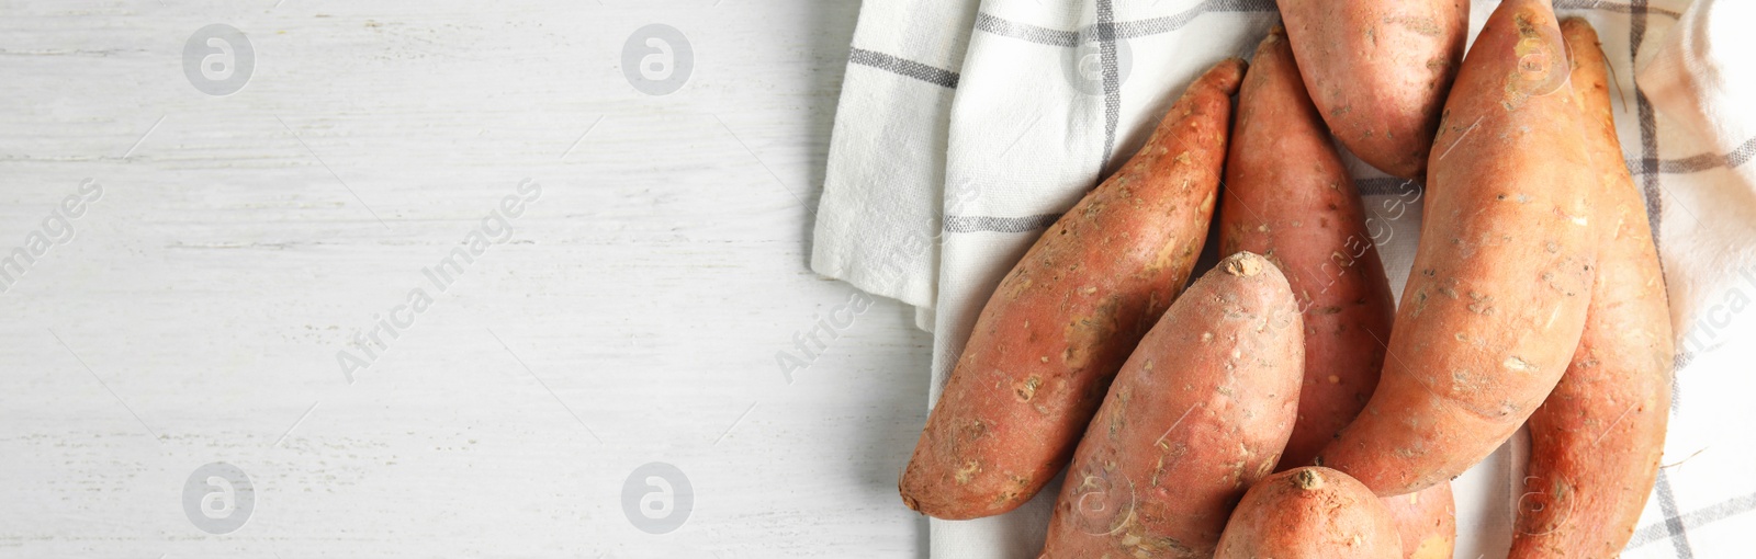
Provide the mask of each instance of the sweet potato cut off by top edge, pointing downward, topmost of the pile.
{"label": "sweet potato cut off by top edge, pointing downward, topmost of the pile", "polygon": [[1335,137],[1421,179],[1470,32],[1468,0],[1280,0],[1292,53]]}

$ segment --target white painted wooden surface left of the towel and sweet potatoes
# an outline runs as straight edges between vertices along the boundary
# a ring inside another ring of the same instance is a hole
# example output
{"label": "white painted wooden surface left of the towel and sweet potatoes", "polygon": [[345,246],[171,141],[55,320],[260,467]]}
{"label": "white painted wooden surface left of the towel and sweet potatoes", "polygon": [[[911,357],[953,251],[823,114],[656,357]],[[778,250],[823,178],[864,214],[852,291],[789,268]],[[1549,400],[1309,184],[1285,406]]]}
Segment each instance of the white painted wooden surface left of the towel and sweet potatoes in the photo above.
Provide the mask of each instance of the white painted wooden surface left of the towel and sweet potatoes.
{"label": "white painted wooden surface left of the towel and sweet potatoes", "polygon": [[[857,7],[0,2],[0,258],[102,186],[0,294],[0,557],[918,555],[931,338],[876,301],[776,366],[853,293],[806,261]],[[255,47],[230,96],[183,74],[211,23]],[[648,23],[694,47],[667,96],[622,74]],[[228,534],[184,512],[216,461]],[[622,508],[653,461],[694,487],[666,534]]]}

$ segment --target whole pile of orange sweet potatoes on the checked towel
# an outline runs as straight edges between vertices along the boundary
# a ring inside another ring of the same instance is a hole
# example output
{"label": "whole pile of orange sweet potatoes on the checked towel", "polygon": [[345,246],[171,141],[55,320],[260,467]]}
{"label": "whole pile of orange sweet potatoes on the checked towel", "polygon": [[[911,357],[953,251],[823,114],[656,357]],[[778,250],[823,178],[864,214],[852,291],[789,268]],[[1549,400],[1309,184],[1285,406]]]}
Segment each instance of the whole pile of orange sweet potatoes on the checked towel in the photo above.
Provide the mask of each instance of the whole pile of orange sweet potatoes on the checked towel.
{"label": "whole pile of orange sweet potatoes on the checked towel", "polygon": [[[1591,26],[1505,0],[1465,53],[1468,5],[1280,0],[992,293],[903,501],[1066,471],[1045,557],[1450,557],[1449,480],[1528,426],[1512,555],[1616,555],[1670,401],[1644,196]],[[1400,303],[1336,144],[1424,179]]]}

